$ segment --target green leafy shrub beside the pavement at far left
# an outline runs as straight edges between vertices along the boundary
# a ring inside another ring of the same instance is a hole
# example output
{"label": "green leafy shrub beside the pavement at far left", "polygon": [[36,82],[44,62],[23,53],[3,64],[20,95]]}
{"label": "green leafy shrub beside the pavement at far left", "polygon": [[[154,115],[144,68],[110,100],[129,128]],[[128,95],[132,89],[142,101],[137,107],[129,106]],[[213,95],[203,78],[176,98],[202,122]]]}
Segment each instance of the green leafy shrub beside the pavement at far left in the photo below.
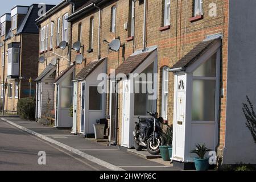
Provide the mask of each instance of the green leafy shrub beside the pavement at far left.
{"label": "green leafy shrub beside the pavement at far left", "polygon": [[20,98],[17,104],[17,113],[20,118],[35,120],[35,99]]}

